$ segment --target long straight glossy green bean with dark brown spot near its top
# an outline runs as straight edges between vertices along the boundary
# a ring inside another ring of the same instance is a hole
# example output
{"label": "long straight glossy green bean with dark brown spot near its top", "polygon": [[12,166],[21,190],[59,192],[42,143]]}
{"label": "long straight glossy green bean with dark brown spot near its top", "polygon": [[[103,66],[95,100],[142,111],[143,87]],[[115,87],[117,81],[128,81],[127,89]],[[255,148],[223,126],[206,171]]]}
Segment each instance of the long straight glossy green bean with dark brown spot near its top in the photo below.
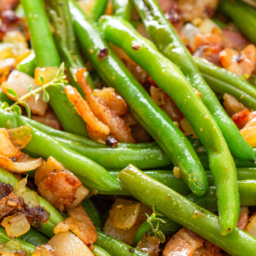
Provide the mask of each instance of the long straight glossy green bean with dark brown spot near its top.
{"label": "long straight glossy green bean with dark brown spot near its top", "polygon": [[[133,78],[121,60],[113,54],[109,45],[101,38],[97,28],[91,25],[89,18],[80,10],[80,7],[69,0],[69,8],[81,48],[95,69],[103,80],[121,94],[138,122],[151,133],[173,163],[180,167],[191,190],[197,195],[203,194],[208,188],[208,180],[192,145]],[[107,56],[100,59],[99,52],[106,48]]]}

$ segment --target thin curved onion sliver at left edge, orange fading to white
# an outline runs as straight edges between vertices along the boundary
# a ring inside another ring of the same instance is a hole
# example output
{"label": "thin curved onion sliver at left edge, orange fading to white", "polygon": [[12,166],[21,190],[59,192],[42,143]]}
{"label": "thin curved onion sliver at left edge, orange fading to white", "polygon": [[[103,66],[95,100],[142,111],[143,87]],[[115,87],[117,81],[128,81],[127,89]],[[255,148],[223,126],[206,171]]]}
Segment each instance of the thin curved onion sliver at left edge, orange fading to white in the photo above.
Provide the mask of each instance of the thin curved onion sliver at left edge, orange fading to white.
{"label": "thin curved onion sliver at left edge, orange fading to white", "polygon": [[22,155],[16,162],[11,159],[0,155],[0,166],[5,170],[14,173],[26,173],[37,169],[43,164],[42,158],[31,158],[29,155]]}

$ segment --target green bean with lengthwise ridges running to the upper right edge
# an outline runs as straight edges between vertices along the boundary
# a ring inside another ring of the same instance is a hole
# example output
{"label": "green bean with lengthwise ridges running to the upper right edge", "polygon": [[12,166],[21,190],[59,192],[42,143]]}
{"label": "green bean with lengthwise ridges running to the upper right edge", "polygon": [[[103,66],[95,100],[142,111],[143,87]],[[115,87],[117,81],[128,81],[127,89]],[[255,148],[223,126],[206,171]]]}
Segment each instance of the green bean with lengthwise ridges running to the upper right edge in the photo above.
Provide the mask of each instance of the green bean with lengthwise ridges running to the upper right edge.
{"label": "green bean with lengthwise ridges running to the upper right edge", "polygon": [[229,93],[249,109],[256,110],[256,88],[250,83],[226,69],[220,69],[207,60],[200,58],[194,58],[194,60],[213,91],[219,92],[221,96],[224,93]]}

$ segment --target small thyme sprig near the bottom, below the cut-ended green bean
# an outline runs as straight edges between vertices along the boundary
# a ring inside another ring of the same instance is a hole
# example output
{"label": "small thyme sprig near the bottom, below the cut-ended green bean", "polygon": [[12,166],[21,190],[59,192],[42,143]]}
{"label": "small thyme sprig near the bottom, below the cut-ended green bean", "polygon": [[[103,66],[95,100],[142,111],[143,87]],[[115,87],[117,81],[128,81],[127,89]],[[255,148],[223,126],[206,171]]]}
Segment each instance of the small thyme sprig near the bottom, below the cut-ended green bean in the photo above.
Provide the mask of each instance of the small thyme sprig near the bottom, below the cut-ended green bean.
{"label": "small thyme sprig near the bottom, below the cut-ended green bean", "polygon": [[[153,207],[153,213],[151,216],[149,216],[148,214],[146,214],[147,217],[147,223],[150,224],[152,232],[155,235],[155,238],[160,240],[160,242],[165,242],[165,234],[159,229],[160,223],[166,223],[164,219],[158,218],[158,217],[163,217],[162,214],[157,213],[155,211],[155,207]],[[154,227],[155,226],[155,227]]]}

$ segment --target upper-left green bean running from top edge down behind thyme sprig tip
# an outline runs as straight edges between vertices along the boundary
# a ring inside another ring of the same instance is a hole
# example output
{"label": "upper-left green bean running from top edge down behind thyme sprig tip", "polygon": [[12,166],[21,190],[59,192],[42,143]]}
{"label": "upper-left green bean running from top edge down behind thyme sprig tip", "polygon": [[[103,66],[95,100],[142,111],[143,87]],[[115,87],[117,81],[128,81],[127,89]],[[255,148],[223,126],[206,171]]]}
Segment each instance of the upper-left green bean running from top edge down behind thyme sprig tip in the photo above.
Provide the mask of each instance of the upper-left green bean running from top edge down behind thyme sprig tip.
{"label": "upper-left green bean running from top edge down behind thyme sprig tip", "polygon": [[[27,16],[27,24],[36,53],[37,66],[40,68],[59,67],[59,53],[48,27],[48,19],[44,12],[42,0],[22,0],[21,3]],[[87,136],[86,123],[76,112],[67,95],[53,86],[48,88],[48,94],[49,103],[57,114],[64,130]]]}

